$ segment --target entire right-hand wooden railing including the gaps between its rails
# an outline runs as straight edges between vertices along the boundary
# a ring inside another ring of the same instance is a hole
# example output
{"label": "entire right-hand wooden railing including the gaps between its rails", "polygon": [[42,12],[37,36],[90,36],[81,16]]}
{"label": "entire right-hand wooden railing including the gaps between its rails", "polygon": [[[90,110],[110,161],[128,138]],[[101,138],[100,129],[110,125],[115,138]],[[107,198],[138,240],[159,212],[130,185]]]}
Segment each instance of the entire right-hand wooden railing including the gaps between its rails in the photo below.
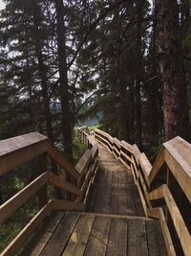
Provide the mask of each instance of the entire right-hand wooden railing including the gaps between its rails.
{"label": "entire right-hand wooden railing including the gaps between its rails", "polygon": [[[95,129],[96,140],[127,168],[138,186],[145,215],[159,219],[168,255],[191,256],[191,145],[176,137],[162,145],[152,166],[137,145]],[[83,132],[83,140],[87,132]]]}

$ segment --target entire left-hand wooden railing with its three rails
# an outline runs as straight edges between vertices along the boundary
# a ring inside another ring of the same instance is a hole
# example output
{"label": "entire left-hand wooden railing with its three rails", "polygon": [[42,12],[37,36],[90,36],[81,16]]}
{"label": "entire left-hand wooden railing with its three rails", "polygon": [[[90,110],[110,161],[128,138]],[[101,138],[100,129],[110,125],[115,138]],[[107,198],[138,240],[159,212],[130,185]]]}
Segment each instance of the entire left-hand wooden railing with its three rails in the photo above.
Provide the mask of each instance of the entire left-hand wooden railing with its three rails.
{"label": "entire left-hand wooden railing with its three rails", "polygon": [[[88,136],[86,136],[88,140]],[[32,232],[38,227],[47,215],[53,210],[83,211],[87,190],[90,187],[92,178],[97,167],[98,148],[95,143],[88,141],[89,149],[85,151],[76,166],[74,167],[59,151],[53,143],[44,135],[32,132],[22,136],[0,141],[0,176],[12,172],[15,168],[31,161],[34,157],[40,156],[41,174],[32,180],[27,186],[20,190],[13,197],[0,205],[0,223],[7,221],[11,215],[22,207],[30,198],[37,196],[37,214],[25,226],[25,228],[14,238],[1,255],[15,255],[15,252],[30,238]],[[54,175],[47,171],[47,157],[68,172],[74,180],[71,184],[64,177]],[[48,199],[47,184],[73,195],[74,200]]]}

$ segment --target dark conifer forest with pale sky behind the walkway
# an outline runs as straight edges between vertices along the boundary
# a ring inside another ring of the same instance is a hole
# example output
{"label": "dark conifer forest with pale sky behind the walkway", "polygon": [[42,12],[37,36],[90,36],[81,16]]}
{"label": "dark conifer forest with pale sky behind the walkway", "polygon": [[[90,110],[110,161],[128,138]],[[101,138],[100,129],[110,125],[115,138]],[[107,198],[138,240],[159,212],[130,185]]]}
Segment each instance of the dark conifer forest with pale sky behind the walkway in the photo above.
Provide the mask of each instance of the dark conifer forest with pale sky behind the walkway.
{"label": "dark conifer forest with pale sky behind the walkway", "polygon": [[[37,130],[77,161],[75,127],[88,118],[151,162],[163,141],[190,142],[190,0],[2,3],[1,140]],[[28,171],[1,177],[1,203],[29,183]],[[32,214],[0,227],[0,247]]]}

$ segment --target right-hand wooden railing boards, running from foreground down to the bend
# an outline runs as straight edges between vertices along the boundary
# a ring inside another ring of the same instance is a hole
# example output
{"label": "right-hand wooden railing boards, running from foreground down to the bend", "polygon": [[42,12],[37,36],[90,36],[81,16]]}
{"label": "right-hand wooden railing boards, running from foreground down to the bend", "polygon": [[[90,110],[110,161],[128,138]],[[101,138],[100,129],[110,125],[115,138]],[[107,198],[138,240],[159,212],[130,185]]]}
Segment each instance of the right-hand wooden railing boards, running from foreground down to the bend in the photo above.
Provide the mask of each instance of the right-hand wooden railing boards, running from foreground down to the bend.
{"label": "right-hand wooden railing boards, running from foreground down to the bend", "polygon": [[[179,198],[177,198],[178,201],[175,201],[168,187],[168,179],[171,178],[170,172],[178,182],[180,191],[184,193],[189,203],[191,202],[191,145],[179,136],[165,142],[152,166],[146,155],[138,150],[137,145],[130,145],[124,141],[118,142],[116,138],[112,138],[110,134],[97,128],[95,129],[95,138],[113,152],[115,157],[127,168],[131,168],[146,216],[157,218],[160,221],[168,254],[175,256],[176,250],[168,229],[168,219],[165,218],[162,208],[152,206],[154,199],[165,199],[166,208],[171,215],[184,254],[185,256],[191,255],[190,231],[188,231],[179,209],[181,198],[180,201]],[[163,164],[167,166],[165,169],[167,172],[166,183],[164,181],[163,186],[152,191]],[[190,204],[189,209],[191,209]]]}

